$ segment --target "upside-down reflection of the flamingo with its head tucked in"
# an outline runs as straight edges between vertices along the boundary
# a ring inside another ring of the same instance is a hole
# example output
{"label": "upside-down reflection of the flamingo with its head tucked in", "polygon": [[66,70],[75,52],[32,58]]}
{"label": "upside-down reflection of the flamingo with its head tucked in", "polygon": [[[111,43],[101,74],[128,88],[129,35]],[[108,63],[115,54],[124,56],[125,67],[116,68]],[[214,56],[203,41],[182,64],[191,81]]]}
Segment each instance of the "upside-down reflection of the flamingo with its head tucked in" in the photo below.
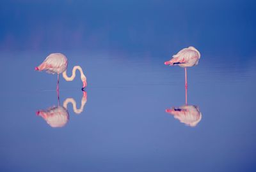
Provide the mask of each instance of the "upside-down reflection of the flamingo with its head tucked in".
{"label": "upside-down reflection of the flamingo with its head tucked in", "polygon": [[173,107],[171,109],[166,109],[165,111],[172,114],[173,117],[180,122],[190,127],[195,127],[202,119],[202,113],[198,106],[188,105],[188,87],[185,87],[185,94],[186,105],[179,106],[178,108]]}

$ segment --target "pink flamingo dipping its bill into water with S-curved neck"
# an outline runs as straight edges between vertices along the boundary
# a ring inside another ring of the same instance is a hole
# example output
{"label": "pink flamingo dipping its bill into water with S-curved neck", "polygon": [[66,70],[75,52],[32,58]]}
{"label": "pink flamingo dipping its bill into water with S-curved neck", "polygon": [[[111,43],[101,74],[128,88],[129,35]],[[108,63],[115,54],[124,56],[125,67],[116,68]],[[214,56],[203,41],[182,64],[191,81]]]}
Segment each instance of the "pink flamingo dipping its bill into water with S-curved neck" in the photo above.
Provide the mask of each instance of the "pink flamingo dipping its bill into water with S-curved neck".
{"label": "pink flamingo dipping its bill into water with S-curved neck", "polygon": [[47,73],[57,73],[58,81],[57,81],[57,90],[59,90],[59,80],[60,80],[60,73],[62,73],[63,78],[66,81],[72,81],[76,77],[76,70],[80,71],[81,80],[83,82],[83,88],[87,86],[86,76],[83,73],[83,69],[80,66],[74,66],[72,69],[72,76],[67,76],[67,66],[68,66],[68,59],[64,54],[61,53],[52,53],[46,57],[44,62],[39,66],[35,67],[36,71],[46,71]]}

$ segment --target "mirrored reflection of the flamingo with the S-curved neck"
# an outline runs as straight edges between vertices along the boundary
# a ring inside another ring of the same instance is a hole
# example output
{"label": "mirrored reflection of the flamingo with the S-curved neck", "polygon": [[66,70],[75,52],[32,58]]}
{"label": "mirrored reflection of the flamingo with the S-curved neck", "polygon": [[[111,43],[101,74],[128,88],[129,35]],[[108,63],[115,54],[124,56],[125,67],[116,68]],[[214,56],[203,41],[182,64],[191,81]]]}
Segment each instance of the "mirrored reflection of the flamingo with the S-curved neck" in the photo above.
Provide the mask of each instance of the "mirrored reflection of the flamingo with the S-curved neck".
{"label": "mirrored reflection of the flamingo with the S-curved neck", "polygon": [[64,127],[68,120],[68,110],[67,105],[68,103],[72,103],[73,110],[76,114],[83,112],[84,105],[87,101],[87,92],[83,91],[83,97],[81,99],[81,107],[77,109],[76,101],[73,98],[65,99],[63,106],[60,106],[60,99],[58,97],[58,106],[52,106],[47,110],[38,110],[36,111],[36,115],[44,118],[44,120],[49,124],[51,127]]}

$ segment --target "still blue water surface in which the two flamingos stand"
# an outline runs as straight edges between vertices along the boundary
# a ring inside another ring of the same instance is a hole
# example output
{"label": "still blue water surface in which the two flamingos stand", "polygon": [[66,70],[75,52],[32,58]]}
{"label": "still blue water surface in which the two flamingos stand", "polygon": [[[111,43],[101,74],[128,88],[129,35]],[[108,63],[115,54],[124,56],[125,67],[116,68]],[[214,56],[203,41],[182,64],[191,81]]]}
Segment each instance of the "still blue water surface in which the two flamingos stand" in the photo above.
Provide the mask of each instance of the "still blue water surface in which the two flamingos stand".
{"label": "still blue water surface in which the two flamingos stand", "polygon": [[79,64],[88,87],[61,76],[57,127],[36,115],[58,107],[57,76],[34,71],[48,53],[1,54],[1,171],[252,171],[255,61],[201,52],[187,111],[184,69],[165,66],[170,56],[65,52],[68,74]]}

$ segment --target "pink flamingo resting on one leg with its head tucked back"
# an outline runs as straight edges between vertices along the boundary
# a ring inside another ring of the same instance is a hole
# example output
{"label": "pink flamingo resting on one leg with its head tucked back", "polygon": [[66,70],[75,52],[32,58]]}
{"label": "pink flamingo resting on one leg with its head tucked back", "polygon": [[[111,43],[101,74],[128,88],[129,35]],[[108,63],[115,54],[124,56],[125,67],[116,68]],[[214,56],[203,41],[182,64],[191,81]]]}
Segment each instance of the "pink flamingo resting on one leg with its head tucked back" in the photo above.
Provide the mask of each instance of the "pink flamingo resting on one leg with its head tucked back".
{"label": "pink flamingo resting on one leg with its head tucked back", "polygon": [[196,66],[200,59],[200,52],[195,47],[183,48],[177,54],[173,55],[170,61],[164,62],[165,65],[179,65],[185,68],[185,87],[188,87],[187,82],[187,67]]}

